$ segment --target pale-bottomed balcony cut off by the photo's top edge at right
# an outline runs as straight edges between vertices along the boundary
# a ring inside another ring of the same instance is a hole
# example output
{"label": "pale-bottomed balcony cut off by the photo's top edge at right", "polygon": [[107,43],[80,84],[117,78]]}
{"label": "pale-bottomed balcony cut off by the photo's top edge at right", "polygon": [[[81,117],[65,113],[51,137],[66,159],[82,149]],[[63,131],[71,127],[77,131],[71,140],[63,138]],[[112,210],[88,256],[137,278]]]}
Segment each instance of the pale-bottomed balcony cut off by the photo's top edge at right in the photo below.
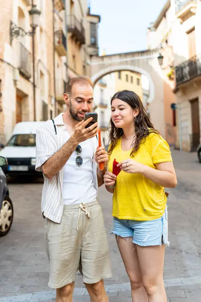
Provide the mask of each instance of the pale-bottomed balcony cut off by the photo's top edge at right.
{"label": "pale-bottomed balcony cut off by the photo's top edge at right", "polygon": [[184,22],[196,13],[197,0],[175,0],[176,17]]}

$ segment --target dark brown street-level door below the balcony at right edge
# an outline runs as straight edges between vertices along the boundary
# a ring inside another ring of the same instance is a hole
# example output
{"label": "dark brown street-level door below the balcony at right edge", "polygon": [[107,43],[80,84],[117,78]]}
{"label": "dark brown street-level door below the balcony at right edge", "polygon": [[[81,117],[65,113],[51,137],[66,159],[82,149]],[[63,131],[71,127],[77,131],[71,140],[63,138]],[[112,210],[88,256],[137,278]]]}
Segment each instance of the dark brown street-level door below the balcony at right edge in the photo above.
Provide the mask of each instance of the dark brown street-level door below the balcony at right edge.
{"label": "dark brown street-level door below the balcony at right edge", "polygon": [[190,107],[191,107],[191,121],[192,121],[191,151],[195,151],[199,144],[199,136],[200,136],[198,98],[190,101]]}

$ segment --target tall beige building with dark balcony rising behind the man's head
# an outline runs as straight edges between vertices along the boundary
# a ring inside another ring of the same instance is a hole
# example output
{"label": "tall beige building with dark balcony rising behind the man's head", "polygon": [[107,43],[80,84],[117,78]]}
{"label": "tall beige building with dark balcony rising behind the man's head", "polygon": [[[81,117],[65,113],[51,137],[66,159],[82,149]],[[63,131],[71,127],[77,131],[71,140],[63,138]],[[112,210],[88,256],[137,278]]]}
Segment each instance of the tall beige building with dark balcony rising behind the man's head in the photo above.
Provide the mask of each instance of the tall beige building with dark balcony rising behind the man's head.
{"label": "tall beige building with dark balcony rising behind the man's head", "polygon": [[66,83],[78,75],[90,77],[90,56],[98,54],[97,30],[100,16],[90,14],[87,0],[66,0],[65,4],[66,8],[64,6],[64,10],[55,16],[55,33],[59,33],[55,36],[57,113],[64,111]]}

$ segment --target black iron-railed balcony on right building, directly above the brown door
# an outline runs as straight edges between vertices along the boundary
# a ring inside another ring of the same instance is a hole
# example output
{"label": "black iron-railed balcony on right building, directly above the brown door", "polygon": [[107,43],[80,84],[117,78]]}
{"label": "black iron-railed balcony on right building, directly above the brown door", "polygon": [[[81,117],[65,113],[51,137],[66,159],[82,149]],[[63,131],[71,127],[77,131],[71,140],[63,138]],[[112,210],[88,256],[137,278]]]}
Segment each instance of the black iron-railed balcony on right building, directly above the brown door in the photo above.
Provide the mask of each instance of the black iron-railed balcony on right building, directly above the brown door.
{"label": "black iron-railed balcony on right building, directly above the brown door", "polygon": [[201,77],[201,53],[175,67],[176,86]]}

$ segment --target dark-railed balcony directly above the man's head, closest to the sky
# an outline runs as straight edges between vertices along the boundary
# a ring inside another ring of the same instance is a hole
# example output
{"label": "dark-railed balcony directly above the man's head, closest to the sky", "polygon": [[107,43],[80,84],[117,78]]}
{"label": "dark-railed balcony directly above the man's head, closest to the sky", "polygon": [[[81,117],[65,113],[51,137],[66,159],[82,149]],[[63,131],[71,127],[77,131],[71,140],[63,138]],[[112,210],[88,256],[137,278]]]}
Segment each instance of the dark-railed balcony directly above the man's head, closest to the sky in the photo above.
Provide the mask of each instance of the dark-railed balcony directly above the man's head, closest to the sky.
{"label": "dark-railed balcony directly above the man's head, closest to the sky", "polygon": [[80,44],[85,44],[85,30],[82,23],[75,16],[67,16],[67,26],[68,32],[72,34],[72,37]]}

